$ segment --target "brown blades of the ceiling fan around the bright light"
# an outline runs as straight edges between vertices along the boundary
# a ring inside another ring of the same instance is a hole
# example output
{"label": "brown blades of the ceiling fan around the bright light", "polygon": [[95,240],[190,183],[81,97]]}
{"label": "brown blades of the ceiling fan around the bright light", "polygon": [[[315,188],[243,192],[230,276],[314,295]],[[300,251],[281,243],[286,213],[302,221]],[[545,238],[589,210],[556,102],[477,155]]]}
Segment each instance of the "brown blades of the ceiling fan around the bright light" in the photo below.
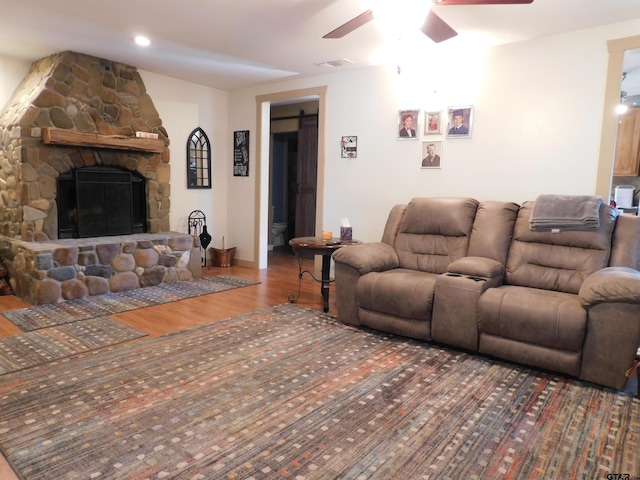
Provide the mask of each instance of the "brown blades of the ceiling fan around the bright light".
{"label": "brown blades of the ceiling fan around the bright light", "polygon": [[[425,0],[426,1],[426,0]],[[432,0],[435,5],[520,5],[533,3],[533,0]],[[373,20],[373,10],[367,10],[352,18],[344,25],[324,35],[322,38],[342,38]],[[427,18],[420,28],[422,33],[436,43],[455,37],[458,32],[451,28],[438,15],[429,10]]]}

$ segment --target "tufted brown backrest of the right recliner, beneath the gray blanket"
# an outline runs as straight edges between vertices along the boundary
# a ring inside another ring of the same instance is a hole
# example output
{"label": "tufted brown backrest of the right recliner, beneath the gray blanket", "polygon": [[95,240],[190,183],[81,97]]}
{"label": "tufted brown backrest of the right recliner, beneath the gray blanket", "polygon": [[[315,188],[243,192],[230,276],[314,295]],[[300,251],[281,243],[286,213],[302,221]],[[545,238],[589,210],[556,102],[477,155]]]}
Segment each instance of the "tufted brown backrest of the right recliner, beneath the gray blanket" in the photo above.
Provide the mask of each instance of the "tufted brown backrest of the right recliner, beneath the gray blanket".
{"label": "tufted brown backrest of the right recliner, beneath the gray blanket", "polygon": [[578,293],[584,279],[609,262],[615,211],[602,205],[597,230],[533,232],[529,229],[532,206],[533,202],[526,202],[518,213],[505,283]]}

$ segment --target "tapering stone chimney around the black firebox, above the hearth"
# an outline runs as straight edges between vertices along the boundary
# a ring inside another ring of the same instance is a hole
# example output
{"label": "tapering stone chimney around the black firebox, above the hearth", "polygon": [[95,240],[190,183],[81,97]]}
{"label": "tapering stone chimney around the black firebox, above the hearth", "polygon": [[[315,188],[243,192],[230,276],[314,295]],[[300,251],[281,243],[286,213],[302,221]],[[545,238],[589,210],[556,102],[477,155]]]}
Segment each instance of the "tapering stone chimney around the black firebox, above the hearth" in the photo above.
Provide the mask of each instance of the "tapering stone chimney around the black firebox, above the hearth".
{"label": "tapering stone chimney around the black firebox, above the hearth", "polygon": [[[59,132],[88,134],[97,148],[45,141],[45,133]],[[137,148],[137,132],[157,135],[160,149]],[[75,52],[35,62],[0,114],[0,234],[57,239],[56,178],[87,166],[141,174],[147,180],[147,231],[169,231],[168,145],[135,67]]]}

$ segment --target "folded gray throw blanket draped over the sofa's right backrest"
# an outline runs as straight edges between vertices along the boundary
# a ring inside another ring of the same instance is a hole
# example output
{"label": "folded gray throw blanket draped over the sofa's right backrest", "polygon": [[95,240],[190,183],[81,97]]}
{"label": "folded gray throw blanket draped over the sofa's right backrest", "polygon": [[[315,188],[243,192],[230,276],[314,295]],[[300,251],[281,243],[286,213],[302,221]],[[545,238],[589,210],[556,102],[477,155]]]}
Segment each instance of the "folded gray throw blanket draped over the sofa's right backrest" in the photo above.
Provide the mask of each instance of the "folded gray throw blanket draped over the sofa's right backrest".
{"label": "folded gray throw blanket draped over the sofa's right backrest", "polygon": [[602,197],[595,195],[540,195],[529,227],[534,232],[596,230],[602,202]]}

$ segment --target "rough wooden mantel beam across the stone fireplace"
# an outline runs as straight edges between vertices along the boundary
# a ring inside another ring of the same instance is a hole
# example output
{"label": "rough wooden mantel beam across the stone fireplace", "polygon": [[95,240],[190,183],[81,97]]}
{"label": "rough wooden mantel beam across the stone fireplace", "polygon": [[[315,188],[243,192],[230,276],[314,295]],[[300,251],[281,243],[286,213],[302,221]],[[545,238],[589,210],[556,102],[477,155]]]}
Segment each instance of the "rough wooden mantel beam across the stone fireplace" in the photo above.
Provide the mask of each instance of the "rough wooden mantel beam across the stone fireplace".
{"label": "rough wooden mantel beam across the stone fireplace", "polygon": [[76,132],[60,128],[42,129],[42,141],[47,145],[67,145],[88,148],[133,150],[136,152],[164,152],[164,141],[156,138],[127,137],[125,135],[101,135]]}

